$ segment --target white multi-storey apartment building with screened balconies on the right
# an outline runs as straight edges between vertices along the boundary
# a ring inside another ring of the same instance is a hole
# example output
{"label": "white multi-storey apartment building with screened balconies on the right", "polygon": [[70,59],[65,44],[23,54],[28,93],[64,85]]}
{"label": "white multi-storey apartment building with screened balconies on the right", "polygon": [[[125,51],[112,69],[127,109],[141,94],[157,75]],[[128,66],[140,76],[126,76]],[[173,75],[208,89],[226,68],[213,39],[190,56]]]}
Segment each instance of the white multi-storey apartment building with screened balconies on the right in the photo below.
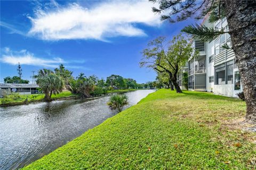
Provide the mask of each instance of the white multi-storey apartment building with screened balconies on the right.
{"label": "white multi-storey apartment building with screened balconies on the right", "polygon": [[[226,19],[212,24],[206,16],[202,24],[206,27],[228,30]],[[222,48],[226,43],[231,46],[230,35],[225,33],[211,42],[193,40],[192,43],[200,55],[188,61],[189,90],[237,97],[236,94],[242,91],[242,85],[234,62],[235,54],[232,49]],[[182,86],[181,82],[179,84]]]}

